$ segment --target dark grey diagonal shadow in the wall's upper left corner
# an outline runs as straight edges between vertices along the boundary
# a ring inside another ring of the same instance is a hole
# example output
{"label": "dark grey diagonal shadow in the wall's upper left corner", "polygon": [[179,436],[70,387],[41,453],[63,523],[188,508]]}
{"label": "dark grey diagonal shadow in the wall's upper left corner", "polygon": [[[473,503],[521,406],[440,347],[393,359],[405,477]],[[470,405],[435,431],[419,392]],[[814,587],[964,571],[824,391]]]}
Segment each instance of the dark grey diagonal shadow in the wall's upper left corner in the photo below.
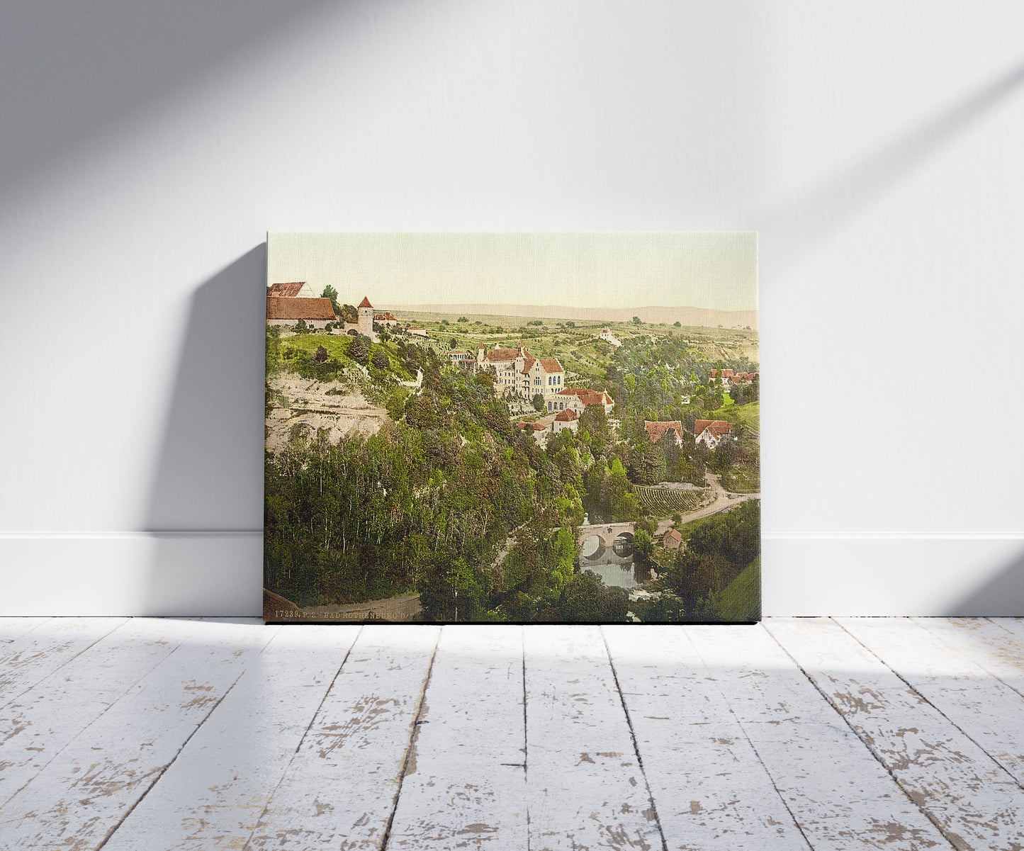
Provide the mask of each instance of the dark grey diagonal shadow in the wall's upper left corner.
{"label": "dark grey diagonal shadow in the wall's upper left corner", "polygon": [[5,3],[0,188],[106,137],[327,0]]}

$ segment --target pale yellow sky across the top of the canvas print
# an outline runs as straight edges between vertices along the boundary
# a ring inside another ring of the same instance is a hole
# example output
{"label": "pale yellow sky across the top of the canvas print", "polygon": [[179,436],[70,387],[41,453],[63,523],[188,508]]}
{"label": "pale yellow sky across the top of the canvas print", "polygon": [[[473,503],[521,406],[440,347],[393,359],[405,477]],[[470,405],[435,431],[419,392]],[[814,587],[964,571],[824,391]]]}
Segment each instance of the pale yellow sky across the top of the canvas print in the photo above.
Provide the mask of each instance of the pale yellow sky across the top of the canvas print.
{"label": "pale yellow sky across the top of the canvas print", "polygon": [[756,231],[272,231],[268,284],[342,302],[758,309]]}

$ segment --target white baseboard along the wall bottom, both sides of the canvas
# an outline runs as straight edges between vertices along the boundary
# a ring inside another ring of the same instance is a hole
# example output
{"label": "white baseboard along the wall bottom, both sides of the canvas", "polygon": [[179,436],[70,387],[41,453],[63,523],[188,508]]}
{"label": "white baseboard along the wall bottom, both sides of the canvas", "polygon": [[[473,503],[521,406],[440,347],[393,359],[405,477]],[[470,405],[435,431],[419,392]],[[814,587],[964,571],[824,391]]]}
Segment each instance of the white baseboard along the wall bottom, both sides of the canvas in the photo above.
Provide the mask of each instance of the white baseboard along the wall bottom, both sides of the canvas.
{"label": "white baseboard along the wall bottom, both sides of the canvas", "polygon": [[[261,612],[262,536],[0,533],[0,615]],[[1024,535],[766,533],[766,615],[1024,615]]]}

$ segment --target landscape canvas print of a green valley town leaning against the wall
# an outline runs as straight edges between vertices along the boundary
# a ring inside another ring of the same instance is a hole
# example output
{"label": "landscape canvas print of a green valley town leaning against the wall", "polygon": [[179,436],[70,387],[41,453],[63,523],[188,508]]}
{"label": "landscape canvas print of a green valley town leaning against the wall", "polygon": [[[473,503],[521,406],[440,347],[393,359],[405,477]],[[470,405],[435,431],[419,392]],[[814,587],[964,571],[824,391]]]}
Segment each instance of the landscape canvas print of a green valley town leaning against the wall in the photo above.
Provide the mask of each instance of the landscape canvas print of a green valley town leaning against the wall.
{"label": "landscape canvas print of a green valley town leaning against the wall", "polygon": [[271,232],[264,620],[750,623],[754,232]]}

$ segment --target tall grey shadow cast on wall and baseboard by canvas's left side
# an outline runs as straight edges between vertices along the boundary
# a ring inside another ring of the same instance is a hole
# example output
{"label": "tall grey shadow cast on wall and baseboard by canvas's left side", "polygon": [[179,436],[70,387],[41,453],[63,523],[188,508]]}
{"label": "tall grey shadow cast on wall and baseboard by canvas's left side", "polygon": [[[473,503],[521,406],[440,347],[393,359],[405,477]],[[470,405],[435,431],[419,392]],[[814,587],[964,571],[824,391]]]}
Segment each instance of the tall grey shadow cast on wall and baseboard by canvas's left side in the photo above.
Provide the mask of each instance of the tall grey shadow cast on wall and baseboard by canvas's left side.
{"label": "tall grey shadow cast on wall and baseboard by canvas's left side", "polygon": [[264,244],[193,296],[144,516],[146,614],[261,611],[265,282]]}

